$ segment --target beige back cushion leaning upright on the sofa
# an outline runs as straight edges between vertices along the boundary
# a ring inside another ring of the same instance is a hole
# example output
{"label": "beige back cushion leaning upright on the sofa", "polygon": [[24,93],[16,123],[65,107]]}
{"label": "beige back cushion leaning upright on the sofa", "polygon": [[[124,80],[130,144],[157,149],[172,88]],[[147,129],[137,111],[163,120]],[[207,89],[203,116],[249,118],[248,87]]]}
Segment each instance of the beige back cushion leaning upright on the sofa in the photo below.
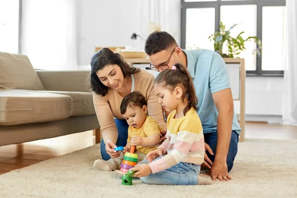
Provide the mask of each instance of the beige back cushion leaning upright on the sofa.
{"label": "beige back cushion leaning upright on the sofa", "polygon": [[0,89],[45,90],[29,58],[0,52]]}

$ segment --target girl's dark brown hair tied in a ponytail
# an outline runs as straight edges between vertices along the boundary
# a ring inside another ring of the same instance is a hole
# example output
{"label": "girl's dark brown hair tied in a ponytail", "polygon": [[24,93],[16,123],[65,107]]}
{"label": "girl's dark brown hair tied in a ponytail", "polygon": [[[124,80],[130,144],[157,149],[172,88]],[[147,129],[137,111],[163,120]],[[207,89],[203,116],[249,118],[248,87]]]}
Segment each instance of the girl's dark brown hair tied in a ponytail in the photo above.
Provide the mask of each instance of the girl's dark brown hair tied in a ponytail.
{"label": "girl's dark brown hair tied in a ponytail", "polygon": [[184,115],[193,107],[198,110],[198,99],[195,92],[194,83],[191,75],[182,64],[175,64],[176,69],[167,69],[161,72],[156,80],[155,84],[162,84],[164,87],[169,87],[173,91],[177,86],[181,86],[183,89],[183,99],[188,99],[188,105],[184,108]]}

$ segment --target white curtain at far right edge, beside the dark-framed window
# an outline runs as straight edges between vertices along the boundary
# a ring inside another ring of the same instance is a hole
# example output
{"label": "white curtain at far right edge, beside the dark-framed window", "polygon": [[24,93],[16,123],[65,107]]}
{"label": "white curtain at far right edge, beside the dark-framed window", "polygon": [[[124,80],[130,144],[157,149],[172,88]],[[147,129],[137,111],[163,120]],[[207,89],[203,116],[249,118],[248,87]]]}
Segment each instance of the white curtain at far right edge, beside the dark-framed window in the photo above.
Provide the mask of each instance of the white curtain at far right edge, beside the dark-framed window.
{"label": "white curtain at far right edge, beside the dark-framed window", "polygon": [[297,1],[287,0],[287,55],[284,71],[283,123],[297,125]]}

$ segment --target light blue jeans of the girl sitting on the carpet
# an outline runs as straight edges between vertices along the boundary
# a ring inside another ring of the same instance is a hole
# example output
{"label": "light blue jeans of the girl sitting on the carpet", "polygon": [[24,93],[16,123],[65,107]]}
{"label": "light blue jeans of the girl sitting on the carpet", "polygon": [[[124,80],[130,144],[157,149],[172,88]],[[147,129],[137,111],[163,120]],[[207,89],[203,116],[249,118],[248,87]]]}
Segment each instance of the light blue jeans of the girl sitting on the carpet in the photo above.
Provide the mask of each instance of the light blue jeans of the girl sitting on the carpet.
{"label": "light blue jeans of the girl sitting on the carpet", "polygon": [[[158,157],[155,160],[160,159]],[[143,160],[139,164],[148,164],[148,160]],[[198,185],[198,175],[200,173],[200,165],[192,163],[179,162],[178,164],[157,172],[149,174],[140,179],[145,184],[160,184],[160,185]]]}

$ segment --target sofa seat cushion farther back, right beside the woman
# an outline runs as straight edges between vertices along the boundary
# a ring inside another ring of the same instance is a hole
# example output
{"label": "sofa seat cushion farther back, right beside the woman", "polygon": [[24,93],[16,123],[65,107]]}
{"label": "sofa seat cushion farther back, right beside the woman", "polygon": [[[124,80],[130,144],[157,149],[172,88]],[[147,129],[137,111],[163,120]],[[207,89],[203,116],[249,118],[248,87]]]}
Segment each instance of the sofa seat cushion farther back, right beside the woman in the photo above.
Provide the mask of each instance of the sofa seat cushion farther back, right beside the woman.
{"label": "sofa seat cushion farther back, right beside the woman", "polygon": [[96,114],[93,103],[92,92],[62,92],[62,91],[43,91],[53,94],[67,95],[72,98],[71,116]]}

